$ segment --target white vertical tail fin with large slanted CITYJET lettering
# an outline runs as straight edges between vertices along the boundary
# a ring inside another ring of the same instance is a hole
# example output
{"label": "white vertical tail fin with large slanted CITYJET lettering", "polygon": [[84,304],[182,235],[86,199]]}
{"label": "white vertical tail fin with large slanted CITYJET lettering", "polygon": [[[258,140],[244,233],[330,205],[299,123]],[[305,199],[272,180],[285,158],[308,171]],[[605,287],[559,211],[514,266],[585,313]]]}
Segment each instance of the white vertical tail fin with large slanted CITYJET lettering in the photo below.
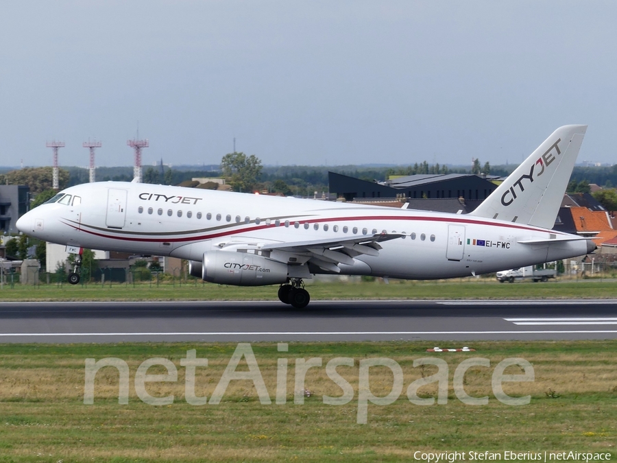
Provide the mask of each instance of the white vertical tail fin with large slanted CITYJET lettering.
{"label": "white vertical tail fin with large slanted CITYJET lettering", "polygon": [[469,215],[553,228],[585,130],[555,130]]}

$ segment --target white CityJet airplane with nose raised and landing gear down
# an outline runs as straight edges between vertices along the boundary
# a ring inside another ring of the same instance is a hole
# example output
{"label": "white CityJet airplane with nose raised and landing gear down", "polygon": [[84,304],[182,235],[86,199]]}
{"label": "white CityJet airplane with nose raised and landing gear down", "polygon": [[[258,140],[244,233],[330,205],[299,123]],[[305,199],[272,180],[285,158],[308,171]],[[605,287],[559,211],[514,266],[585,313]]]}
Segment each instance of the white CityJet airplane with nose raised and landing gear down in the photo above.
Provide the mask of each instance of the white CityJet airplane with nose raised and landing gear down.
{"label": "white CityJet airplane with nose raised and landing gear down", "polygon": [[[60,191],[16,226],[77,254],[173,256],[210,283],[279,285],[280,301],[301,309],[315,274],[455,278],[593,252],[592,240],[551,230],[586,129],[555,130],[465,215],[94,182]],[[79,283],[79,257],[68,278]]]}

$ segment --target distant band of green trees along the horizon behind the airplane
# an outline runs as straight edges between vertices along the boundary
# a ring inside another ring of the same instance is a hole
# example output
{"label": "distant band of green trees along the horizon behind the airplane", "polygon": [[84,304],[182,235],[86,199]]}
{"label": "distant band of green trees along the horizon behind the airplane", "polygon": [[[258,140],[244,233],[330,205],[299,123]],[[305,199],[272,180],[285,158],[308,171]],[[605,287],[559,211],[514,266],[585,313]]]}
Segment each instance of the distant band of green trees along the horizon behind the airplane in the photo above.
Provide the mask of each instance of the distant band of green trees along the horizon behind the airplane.
{"label": "distant band of green trees along the horizon behind the airplane", "polygon": [[[389,176],[407,176],[414,174],[487,174],[507,176],[516,165],[492,166],[478,159],[469,168],[451,167],[426,161],[400,167],[378,166],[263,166],[255,155],[241,152],[228,153],[221,159],[221,169],[180,170],[167,166],[149,166],[143,171],[143,182],[160,185],[196,186],[192,178],[221,177],[226,178],[233,191],[267,191],[283,195],[313,195],[313,191],[328,191],[328,171],[361,178],[368,181],[383,181]],[[132,167],[99,167],[97,180],[132,180]],[[0,174],[1,184],[29,185],[32,206],[36,206],[53,196],[51,189],[51,167],[26,167]],[[88,169],[66,167],[60,169],[60,189],[88,182]],[[617,185],[617,165],[612,167],[574,167],[568,192],[587,192],[589,183],[596,183],[605,188]],[[215,189],[217,184],[200,185]]]}

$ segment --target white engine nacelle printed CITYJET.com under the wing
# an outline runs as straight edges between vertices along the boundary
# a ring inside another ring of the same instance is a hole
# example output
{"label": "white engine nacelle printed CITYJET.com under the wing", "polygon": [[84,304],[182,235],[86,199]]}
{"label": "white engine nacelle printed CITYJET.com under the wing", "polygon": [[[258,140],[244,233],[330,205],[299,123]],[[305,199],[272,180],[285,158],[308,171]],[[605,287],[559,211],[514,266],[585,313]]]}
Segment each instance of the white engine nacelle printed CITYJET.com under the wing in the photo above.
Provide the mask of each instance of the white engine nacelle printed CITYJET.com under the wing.
{"label": "white engine nacelle printed CITYJET.com under the wing", "polygon": [[204,252],[202,278],[221,285],[277,285],[287,282],[287,264],[247,252],[208,251]]}

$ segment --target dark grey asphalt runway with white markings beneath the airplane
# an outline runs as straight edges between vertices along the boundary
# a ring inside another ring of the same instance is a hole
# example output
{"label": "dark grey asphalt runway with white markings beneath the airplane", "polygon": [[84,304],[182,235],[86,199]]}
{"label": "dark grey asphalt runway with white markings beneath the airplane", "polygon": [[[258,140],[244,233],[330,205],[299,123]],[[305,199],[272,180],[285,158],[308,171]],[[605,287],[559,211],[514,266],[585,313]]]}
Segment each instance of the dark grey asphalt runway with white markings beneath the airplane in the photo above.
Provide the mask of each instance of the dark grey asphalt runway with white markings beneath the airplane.
{"label": "dark grey asphalt runway with white markings beneath the airplane", "polygon": [[[0,342],[591,340],[617,300],[3,302]],[[435,344],[437,346],[437,344]]]}

